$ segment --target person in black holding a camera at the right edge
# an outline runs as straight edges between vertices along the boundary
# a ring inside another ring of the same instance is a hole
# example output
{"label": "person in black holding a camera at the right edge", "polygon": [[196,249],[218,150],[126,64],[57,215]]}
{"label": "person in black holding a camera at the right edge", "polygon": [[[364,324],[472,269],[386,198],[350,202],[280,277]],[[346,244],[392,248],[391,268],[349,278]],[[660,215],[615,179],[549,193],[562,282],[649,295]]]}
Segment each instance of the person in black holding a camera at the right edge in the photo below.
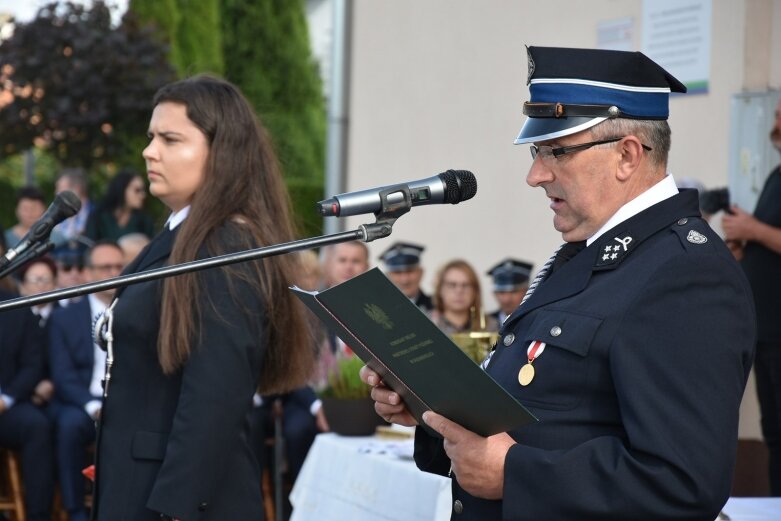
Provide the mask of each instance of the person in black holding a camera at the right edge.
{"label": "person in black holding a camera at the right edge", "polygon": [[[770,131],[781,152],[781,101]],[[754,214],[733,205],[721,224],[725,239],[748,277],[757,308],[757,354],[754,377],[768,448],[770,494],[781,496],[781,165],[759,194]]]}

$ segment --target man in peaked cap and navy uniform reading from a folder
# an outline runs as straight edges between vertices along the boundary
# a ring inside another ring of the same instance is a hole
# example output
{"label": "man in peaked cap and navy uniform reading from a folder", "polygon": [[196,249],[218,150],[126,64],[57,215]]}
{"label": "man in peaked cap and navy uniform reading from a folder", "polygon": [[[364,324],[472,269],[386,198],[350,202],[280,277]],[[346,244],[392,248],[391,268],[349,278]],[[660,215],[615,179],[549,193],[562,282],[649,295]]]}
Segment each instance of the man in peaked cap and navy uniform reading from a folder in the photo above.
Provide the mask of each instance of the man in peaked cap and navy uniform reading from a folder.
{"label": "man in peaked cap and navy uniform reading from a folder", "polygon": [[[415,460],[452,471],[458,520],[715,519],[756,328],[740,267],[667,174],[668,97],[686,89],[641,53],[528,52],[516,143],[566,243],[486,371],[539,422],[483,438],[428,411],[444,441],[417,429]],[[415,424],[397,393],[372,396]]]}

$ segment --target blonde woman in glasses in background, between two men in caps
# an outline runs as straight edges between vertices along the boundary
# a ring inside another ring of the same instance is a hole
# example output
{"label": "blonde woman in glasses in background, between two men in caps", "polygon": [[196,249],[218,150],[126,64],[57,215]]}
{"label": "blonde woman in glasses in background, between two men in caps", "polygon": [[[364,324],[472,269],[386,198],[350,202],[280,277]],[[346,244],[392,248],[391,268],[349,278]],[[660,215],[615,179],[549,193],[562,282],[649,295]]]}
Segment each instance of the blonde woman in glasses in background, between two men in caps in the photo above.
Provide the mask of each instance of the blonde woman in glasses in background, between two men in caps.
{"label": "blonde woman in glasses in background, between two men in caps", "polygon": [[495,319],[483,314],[477,273],[465,260],[451,260],[439,269],[434,282],[431,320],[447,335],[496,331]]}

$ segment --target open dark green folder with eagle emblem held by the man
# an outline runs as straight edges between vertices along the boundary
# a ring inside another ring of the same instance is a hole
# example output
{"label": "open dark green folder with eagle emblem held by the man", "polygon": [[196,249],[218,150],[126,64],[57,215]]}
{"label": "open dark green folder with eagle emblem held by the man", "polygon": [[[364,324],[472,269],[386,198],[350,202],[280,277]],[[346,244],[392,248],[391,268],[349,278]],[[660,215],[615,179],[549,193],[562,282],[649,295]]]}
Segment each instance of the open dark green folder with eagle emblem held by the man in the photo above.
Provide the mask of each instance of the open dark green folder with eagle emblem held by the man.
{"label": "open dark green folder with eagle emblem held by the man", "polygon": [[537,421],[377,268],[321,292],[291,289],[428,432],[428,410],[481,436]]}

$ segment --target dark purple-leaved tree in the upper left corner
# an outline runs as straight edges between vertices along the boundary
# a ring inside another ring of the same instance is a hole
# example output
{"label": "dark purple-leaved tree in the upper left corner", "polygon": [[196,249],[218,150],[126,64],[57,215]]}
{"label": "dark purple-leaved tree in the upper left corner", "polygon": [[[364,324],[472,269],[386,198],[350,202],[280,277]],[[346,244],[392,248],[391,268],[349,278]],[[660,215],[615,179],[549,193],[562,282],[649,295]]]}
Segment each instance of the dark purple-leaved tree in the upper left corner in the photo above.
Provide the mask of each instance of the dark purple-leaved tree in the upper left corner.
{"label": "dark purple-leaved tree in the upper left corner", "polygon": [[71,3],[42,7],[0,45],[0,158],[37,146],[65,166],[109,163],[143,136],[154,92],[172,79],[159,43],[133,17]]}

